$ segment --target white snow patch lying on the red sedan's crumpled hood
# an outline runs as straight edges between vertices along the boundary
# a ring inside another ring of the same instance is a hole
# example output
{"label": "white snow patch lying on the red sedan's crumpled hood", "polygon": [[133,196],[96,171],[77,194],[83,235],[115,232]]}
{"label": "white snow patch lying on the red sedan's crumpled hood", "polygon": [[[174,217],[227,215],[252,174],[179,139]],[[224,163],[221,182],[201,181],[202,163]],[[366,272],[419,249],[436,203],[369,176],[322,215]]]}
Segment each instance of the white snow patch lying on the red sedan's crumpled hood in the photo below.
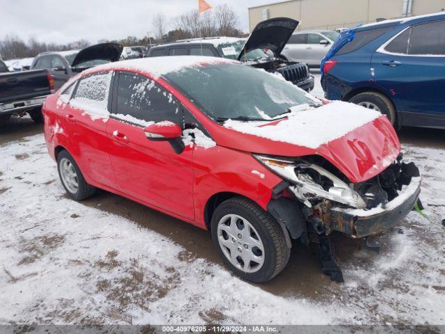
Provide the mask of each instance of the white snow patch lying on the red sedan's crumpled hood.
{"label": "white snow patch lying on the red sedan's crumpled hood", "polygon": [[382,116],[378,111],[341,101],[317,109],[293,111],[288,119],[270,125],[264,122],[227,120],[224,126],[243,134],[315,149]]}

